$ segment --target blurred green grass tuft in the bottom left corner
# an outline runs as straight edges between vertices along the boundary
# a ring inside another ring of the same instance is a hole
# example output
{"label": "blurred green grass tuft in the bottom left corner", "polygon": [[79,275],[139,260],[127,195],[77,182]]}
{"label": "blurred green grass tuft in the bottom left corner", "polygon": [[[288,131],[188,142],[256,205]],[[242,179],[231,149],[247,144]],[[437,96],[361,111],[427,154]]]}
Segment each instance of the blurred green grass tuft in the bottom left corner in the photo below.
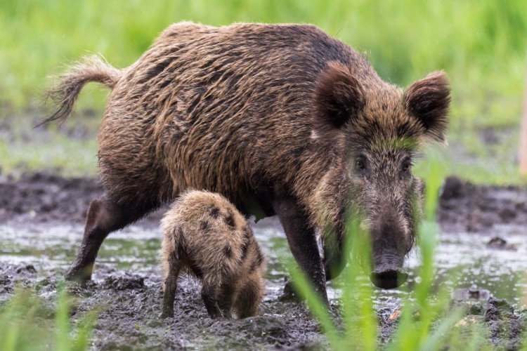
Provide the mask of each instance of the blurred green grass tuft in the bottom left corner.
{"label": "blurred green grass tuft in the bottom left corner", "polygon": [[54,307],[30,291],[18,289],[11,300],[0,305],[0,349],[86,350],[97,311],[84,314],[72,325],[70,303],[63,286],[58,288]]}

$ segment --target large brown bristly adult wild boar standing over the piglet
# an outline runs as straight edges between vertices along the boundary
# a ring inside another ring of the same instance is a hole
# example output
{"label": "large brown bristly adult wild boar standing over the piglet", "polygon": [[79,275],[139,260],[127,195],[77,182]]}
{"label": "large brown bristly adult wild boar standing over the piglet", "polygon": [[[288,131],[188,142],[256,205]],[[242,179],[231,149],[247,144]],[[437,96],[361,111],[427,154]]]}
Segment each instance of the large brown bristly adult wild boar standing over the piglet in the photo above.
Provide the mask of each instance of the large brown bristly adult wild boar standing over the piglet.
{"label": "large brown bristly adult wild boar standing over the piglet", "polygon": [[47,121],[66,119],[89,81],[112,88],[98,134],[105,194],[90,205],[68,278],[89,279],[110,232],[193,187],[246,216],[278,216],[323,297],[343,267],[350,212],[370,232],[372,282],[404,281],[422,191],[412,156],[442,141],[448,121],[442,72],[402,90],[312,25],[182,22],[126,69],[98,58],[72,67],[51,91],[60,107]]}

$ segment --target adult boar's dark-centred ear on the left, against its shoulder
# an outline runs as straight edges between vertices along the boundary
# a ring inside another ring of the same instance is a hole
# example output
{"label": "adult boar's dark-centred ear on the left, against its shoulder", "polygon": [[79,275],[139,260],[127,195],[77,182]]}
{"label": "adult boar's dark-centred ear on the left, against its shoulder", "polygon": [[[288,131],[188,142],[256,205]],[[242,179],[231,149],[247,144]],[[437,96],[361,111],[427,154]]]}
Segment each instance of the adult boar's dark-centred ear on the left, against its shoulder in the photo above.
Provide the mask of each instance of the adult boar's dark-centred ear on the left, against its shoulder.
{"label": "adult boar's dark-centred ear on the left, against its shoulder", "polygon": [[317,131],[341,128],[365,105],[362,86],[350,69],[339,62],[330,62],[320,74],[314,98]]}

